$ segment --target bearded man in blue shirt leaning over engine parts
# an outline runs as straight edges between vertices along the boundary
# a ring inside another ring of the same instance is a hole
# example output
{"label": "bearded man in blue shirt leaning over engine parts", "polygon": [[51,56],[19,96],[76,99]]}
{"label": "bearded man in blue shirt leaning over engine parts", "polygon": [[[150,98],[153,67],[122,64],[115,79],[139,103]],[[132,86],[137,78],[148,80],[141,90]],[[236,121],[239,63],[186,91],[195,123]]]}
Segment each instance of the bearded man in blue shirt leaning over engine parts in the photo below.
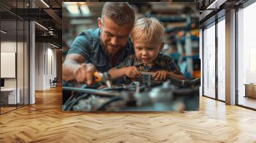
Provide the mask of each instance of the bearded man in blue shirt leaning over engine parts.
{"label": "bearded man in blue shirt leaning over engine parts", "polygon": [[76,37],[63,63],[63,80],[92,84],[93,72],[108,72],[134,54],[129,33],[134,24],[129,3],[108,2],[98,18],[99,28]]}

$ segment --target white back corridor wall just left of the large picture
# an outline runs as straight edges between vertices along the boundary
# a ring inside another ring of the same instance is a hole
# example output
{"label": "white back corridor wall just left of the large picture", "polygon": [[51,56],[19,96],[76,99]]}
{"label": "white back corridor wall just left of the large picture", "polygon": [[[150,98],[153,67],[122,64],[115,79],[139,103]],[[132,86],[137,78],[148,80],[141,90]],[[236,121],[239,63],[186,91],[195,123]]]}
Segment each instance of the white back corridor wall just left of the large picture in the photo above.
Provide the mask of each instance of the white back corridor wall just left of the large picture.
{"label": "white back corridor wall just left of the large picture", "polygon": [[51,88],[50,79],[56,77],[56,49],[53,48],[49,43],[36,43],[36,90]]}

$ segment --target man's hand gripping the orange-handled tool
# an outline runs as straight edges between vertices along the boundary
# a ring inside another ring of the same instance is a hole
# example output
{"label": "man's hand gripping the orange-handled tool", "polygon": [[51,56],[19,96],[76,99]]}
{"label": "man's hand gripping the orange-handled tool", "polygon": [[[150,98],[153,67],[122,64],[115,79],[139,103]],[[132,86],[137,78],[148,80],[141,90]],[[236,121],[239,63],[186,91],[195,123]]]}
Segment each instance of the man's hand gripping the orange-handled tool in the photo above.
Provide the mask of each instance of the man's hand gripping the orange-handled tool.
{"label": "man's hand gripping the orange-handled tool", "polygon": [[88,85],[93,82],[93,73],[96,72],[96,68],[93,64],[80,64],[76,70],[74,70],[74,77],[77,82],[87,83]]}

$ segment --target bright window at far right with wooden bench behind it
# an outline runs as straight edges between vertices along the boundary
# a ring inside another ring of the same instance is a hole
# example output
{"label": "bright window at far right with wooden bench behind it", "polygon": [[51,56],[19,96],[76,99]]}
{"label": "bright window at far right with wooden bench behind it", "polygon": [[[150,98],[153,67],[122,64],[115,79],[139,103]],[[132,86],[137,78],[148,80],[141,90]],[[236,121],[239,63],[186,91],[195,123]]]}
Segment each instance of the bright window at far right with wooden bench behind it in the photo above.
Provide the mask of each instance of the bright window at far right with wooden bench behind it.
{"label": "bright window at far right with wooden bench behind it", "polygon": [[[246,3],[245,3],[246,4]],[[256,3],[237,11],[237,104],[256,110]]]}

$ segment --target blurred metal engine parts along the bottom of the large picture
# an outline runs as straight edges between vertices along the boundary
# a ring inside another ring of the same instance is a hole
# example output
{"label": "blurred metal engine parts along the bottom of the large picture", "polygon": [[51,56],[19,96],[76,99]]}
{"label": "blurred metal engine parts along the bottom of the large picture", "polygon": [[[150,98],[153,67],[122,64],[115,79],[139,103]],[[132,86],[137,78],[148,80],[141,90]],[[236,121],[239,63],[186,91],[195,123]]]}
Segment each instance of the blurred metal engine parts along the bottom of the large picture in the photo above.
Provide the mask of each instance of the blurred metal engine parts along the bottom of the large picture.
{"label": "blurred metal engine parts along the bottom of the large picture", "polygon": [[[65,91],[79,93],[77,96],[70,96],[63,105],[63,110],[177,110],[182,112],[182,110],[198,109],[198,86],[179,89],[171,80],[156,86],[150,83],[133,82],[129,85],[105,89],[63,87],[63,94]],[[191,86],[196,82],[187,80],[184,83],[184,86],[187,85],[186,83]]]}

